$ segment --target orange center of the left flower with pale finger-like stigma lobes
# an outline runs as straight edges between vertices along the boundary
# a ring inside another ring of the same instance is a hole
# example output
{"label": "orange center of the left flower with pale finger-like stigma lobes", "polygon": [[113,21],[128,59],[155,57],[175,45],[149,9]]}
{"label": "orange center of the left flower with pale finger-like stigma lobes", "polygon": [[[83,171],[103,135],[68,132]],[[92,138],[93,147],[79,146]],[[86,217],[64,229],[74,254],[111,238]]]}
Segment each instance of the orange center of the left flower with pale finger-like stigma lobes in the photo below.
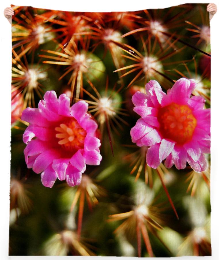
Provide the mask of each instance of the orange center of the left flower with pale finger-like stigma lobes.
{"label": "orange center of the left flower with pale finger-like stigma lobes", "polygon": [[86,131],[74,118],[68,123],[60,124],[60,127],[56,127],[55,130],[58,132],[56,138],[60,139],[58,144],[63,145],[65,149],[72,151],[84,148]]}

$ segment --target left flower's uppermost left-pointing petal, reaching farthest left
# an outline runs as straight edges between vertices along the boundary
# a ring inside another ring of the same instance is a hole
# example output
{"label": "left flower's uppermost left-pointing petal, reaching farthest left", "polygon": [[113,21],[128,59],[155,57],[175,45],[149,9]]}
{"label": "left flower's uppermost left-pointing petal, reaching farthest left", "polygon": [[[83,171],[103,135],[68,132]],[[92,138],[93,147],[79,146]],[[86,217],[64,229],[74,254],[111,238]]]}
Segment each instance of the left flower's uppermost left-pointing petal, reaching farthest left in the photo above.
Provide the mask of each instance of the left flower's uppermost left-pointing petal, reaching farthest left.
{"label": "left flower's uppermost left-pointing petal, reaching farthest left", "polygon": [[48,127],[50,125],[50,122],[41,115],[39,108],[24,109],[21,120],[41,127]]}

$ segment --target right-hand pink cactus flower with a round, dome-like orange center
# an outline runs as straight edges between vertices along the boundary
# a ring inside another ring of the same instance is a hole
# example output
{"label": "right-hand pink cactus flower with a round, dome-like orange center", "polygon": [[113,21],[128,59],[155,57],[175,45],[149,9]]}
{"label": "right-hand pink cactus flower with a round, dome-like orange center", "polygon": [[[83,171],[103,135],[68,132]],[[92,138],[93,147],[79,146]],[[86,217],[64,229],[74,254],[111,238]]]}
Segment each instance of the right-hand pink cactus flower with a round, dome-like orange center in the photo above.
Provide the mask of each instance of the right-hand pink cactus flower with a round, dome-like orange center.
{"label": "right-hand pink cactus flower with a round, dome-like orange center", "polygon": [[207,167],[204,153],[210,152],[210,109],[205,100],[190,97],[194,80],[181,78],[165,94],[155,80],[146,84],[146,93],[136,92],[134,111],[141,116],[131,129],[132,142],[149,146],[147,164],[156,169],[162,160],[170,168],[184,169],[186,162],[196,172]]}

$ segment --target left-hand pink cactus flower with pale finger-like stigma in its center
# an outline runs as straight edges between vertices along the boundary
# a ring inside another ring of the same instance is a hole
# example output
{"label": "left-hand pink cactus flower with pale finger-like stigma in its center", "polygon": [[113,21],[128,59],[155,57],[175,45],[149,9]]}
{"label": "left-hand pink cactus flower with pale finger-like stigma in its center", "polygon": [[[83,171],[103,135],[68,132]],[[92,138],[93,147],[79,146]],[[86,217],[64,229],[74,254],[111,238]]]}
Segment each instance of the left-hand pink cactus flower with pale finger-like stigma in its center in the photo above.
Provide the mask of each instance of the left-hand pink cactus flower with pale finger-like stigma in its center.
{"label": "left-hand pink cactus flower with pale finger-like stigma in its center", "polygon": [[70,107],[65,94],[57,99],[55,91],[47,91],[39,108],[23,111],[21,119],[30,123],[23,134],[25,161],[41,173],[44,186],[51,188],[57,178],[79,185],[86,164],[100,164],[97,123],[87,110],[85,101]]}

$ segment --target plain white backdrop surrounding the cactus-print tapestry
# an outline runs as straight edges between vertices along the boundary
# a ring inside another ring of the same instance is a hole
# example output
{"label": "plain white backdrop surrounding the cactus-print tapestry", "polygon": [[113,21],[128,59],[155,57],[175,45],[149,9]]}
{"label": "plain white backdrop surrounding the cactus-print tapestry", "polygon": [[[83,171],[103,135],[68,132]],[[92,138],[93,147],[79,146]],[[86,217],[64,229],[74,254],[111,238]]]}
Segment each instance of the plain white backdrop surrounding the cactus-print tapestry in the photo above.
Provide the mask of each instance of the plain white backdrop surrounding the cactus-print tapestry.
{"label": "plain white backdrop surrounding the cactus-print tapestry", "polygon": [[[110,12],[110,11],[137,11],[149,8],[166,8],[183,3],[200,3],[201,1],[165,0],[73,0],[73,1],[27,1],[27,0],[2,0],[0,3],[0,256],[8,257],[9,240],[9,190],[10,190],[10,110],[11,110],[11,25],[3,15],[3,10],[13,5],[31,5],[36,8],[54,10],[81,11],[81,12]],[[207,3],[206,1],[202,3]],[[214,1],[219,9],[219,2]],[[219,10],[211,21],[211,54],[212,54],[212,144],[211,144],[211,205],[212,205],[212,257],[199,257],[198,259],[219,259],[218,233],[219,233]],[[22,239],[22,238],[21,238]],[[54,257],[16,257],[17,259],[53,259]],[[197,257],[181,257],[182,260],[196,259]],[[56,257],[55,259],[66,259]],[[71,259],[91,259],[91,257],[73,257]],[[92,259],[109,259],[109,257],[92,257]],[[117,259],[110,257],[110,259]],[[125,258],[121,259],[134,259]],[[165,258],[158,258],[165,259]]]}

